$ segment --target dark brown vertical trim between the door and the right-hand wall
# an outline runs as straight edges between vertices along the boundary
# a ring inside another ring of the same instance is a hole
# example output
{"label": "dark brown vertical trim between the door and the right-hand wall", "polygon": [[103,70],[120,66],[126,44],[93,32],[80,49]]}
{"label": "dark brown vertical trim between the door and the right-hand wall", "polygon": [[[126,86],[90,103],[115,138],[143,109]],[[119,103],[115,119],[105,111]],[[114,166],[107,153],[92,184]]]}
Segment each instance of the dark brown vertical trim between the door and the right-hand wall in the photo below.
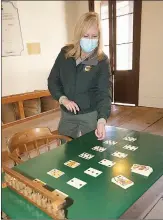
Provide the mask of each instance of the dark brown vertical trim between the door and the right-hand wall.
{"label": "dark brown vertical trim between the door and the right-hand wall", "polygon": [[141,14],[142,14],[142,0],[134,1],[133,13],[133,73],[134,86],[136,93],[134,95],[135,105],[139,102],[139,71],[140,71],[140,43],[141,43]]}

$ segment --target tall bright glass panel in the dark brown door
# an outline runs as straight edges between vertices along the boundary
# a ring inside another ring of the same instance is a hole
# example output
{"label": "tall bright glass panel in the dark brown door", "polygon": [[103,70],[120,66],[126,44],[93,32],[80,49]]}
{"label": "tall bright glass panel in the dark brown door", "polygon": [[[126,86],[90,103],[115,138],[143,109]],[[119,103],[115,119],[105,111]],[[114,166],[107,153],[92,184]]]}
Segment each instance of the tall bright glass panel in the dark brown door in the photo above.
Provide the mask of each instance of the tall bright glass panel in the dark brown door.
{"label": "tall bright glass panel in the dark brown door", "polygon": [[132,70],[133,1],[116,1],[116,70]]}

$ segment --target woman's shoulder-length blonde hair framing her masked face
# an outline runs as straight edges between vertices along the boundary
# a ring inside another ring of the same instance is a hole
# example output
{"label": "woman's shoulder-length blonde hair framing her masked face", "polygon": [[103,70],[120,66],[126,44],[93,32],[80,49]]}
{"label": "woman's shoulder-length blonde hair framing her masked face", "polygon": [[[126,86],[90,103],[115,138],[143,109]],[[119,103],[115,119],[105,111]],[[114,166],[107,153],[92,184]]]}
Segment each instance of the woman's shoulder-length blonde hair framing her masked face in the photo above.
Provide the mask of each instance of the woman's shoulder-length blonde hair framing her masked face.
{"label": "woman's shoulder-length blonde hair framing her masked face", "polygon": [[103,59],[104,53],[102,51],[100,19],[99,15],[95,12],[87,12],[83,14],[76,23],[73,43],[66,45],[66,58],[74,57],[77,60],[80,57],[80,39],[84,36],[86,31],[94,24],[96,24],[98,28],[97,57],[98,60]]}

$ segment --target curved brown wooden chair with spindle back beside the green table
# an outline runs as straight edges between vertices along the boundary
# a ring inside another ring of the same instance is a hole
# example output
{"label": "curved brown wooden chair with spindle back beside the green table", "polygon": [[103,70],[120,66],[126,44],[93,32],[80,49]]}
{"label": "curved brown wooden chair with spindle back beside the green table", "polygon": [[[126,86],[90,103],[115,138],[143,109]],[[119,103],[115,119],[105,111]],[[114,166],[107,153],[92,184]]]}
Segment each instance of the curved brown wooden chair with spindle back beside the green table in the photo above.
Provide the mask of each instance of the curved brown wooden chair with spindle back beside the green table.
{"label": "curved brown wooden chair with spindle back beside the green table", "polygon": [[[41,153],[41,148],[50,150],[50,143],[54,142],[56,147],[61,144],[61,140],[65,143],[72,139],[59,135],[57,131],[52,134],[49,128],[33,128],[24,132],[14,134],[7,143],[9,158],[12,159],[15,164],[22,163],[24,159],[28,160],[32,158],[31,154],[36,153],[34,156],[38,156]],[[35,152],[34,152],[35,151]]]}

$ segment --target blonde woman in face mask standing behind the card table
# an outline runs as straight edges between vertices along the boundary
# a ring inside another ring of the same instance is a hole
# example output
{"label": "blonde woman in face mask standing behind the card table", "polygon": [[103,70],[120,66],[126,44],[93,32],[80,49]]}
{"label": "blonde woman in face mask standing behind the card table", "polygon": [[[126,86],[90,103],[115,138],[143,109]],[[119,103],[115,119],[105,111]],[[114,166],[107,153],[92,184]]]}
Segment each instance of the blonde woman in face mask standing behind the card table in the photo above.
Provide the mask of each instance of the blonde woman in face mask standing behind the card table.
{"label": "blonde woman in face mask standing behind the card table", "polygon": [[73,44],[63,47],[48,78],[48,89],[61,105],[60,134],[77,138],[95,130],[105,138],[111,111],[109,61],[101,50],[98,14],[81,16]]}

